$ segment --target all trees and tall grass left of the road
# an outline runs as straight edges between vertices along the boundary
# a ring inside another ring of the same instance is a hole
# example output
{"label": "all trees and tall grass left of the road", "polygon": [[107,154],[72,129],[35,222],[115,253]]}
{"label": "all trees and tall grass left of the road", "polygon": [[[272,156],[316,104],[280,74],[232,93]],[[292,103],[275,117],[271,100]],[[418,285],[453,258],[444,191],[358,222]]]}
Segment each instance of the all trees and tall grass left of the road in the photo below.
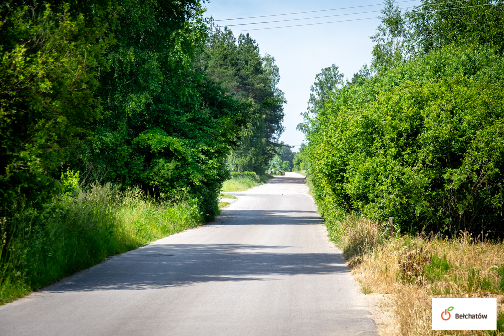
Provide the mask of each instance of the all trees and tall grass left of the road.
{"label": "all trees and tall grass left of the road", "polygon": [[211,221],[285,147],[275,58],[204,11],[0,5],[0,304]]}

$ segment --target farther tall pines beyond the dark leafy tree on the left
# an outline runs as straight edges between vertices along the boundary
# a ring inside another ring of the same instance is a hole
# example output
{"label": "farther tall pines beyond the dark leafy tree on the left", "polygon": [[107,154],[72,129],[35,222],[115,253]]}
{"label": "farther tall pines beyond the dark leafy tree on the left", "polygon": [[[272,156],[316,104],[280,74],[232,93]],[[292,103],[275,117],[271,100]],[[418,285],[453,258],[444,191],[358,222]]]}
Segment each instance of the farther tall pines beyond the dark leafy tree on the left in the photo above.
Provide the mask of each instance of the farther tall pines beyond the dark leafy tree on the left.
{"label": "farther tall pines beyond the dark leafy tree on the left", "polygon": [[236,139],[237,148],[226,160],[231,171],[263,174],[284,130],[281,122],[287,101],[277,88],[278,67],[273,56],[261,56],[259,51],[259,45],[248,34],[235,38],[227,27],[221,30],[212,25],[198,59],[204,72],[222,83],[226,95],[246,106],[249,119]]}

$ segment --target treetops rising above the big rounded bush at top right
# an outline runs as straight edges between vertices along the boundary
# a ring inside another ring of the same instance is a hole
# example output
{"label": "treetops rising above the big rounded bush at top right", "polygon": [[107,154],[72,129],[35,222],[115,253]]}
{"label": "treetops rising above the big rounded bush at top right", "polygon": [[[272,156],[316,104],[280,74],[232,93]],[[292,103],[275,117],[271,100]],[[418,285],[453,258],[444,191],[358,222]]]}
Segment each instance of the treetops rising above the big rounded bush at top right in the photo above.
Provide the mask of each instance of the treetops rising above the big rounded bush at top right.
{"label": "treetops rising above the big rounded bush at top right", "polygon": [[485,45],[504,51],[504,6],[497,1],[446,2],[422,0],[420,6],[401,13],[394,0],[386,0],[382,24],[371,36],[373,72],[447,45]]}

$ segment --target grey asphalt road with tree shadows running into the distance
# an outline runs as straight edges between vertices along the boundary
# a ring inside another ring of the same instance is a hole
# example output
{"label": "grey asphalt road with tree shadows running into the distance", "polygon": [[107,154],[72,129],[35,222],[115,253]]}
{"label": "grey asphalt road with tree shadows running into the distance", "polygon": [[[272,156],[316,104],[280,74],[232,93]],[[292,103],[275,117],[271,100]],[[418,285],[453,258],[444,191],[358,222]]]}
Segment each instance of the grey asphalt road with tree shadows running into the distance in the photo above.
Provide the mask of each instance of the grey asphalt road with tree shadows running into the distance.
{"label": "grey asphalt road with tree shadows running into the distance", "polygon": [[0,307],[0,335],[375,335],[301,175]]}

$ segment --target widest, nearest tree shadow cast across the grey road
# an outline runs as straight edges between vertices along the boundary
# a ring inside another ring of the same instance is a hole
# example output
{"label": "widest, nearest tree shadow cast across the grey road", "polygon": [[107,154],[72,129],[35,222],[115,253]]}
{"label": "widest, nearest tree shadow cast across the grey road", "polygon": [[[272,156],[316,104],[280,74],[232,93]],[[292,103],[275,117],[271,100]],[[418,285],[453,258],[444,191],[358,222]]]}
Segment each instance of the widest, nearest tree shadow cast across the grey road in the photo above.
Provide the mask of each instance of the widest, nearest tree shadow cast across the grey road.
{"label": "widest, nearest tree shadow cast across the grey road", "polygon": [[290,249],[258,244],[150,245],[115,256],[44,291],[143,290],[349,272],[338,254],[283,253],[286,248]]}

